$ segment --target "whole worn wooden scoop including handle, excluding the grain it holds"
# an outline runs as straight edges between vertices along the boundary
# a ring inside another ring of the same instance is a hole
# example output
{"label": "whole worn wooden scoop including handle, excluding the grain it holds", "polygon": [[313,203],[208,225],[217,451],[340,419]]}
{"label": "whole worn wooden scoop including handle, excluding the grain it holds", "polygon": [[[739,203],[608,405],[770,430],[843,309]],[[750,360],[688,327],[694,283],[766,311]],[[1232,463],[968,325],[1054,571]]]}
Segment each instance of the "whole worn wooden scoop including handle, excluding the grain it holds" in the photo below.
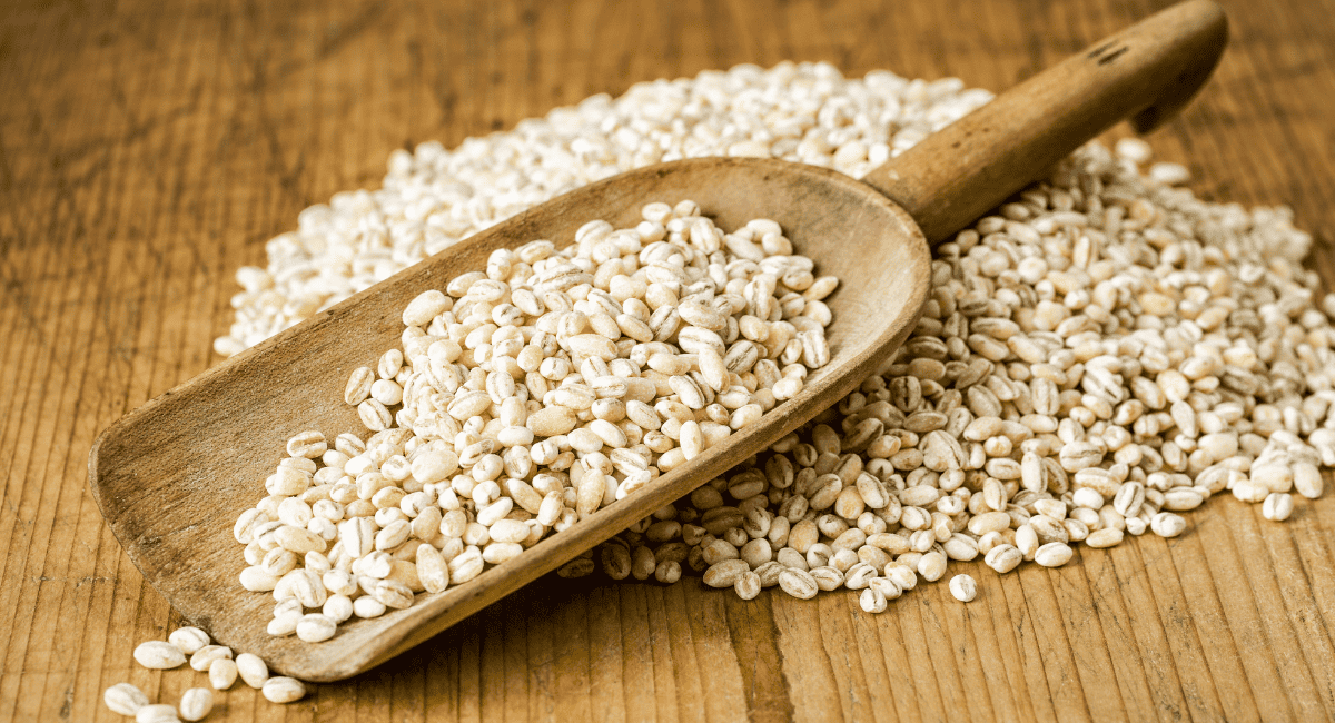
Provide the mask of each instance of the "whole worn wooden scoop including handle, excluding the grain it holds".
{"label": "whole worn wooden scoop including handle, excluding the grain it holds", "polygon": [[[1012,88],[873,171],[862,183],[796,163],[697,159],[631,171],[545,203],[171,390],[124,416],[93,446],[89,483],[144,578],[220,643],[306,680],[338,680],[418,646],[521,586],[765,450],[838,402],[892,359],[930,287],[928,241],[940,241],[1041,177],[1117,120],[1148,129],[1206,81],[1227,41],[1208,0],[1175,5]],[[778,221],[818,273],[828,299],[830,363],[757,424],[519,558],[407,610],[340,626],[324,643],[272,638],[274,599],[247,592],[232,538],[264,496],[284,442],[306,430],[366,435],[343,403],[348,374],[399,345],[400,313],[418,293],[482,269],[495,248],[571,241],[585,221],[621,228],[650,201],[693,199],[718,225]]]}

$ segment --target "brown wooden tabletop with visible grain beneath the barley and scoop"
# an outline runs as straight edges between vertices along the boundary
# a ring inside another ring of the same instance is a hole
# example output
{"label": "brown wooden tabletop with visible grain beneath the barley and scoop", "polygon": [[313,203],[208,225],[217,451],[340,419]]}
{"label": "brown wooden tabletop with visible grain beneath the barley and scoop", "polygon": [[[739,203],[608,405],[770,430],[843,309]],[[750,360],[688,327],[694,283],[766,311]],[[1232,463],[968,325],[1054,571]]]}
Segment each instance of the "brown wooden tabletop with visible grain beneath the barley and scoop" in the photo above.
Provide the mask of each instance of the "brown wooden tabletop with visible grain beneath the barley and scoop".
{"label": "brown wooden tabletop with visible grain beneath the barley and scoop", "polygon": [[[1202,195],[1290,203],[1335,279],[1335,4],[1226,0],[1234,41],[1152,136]],[[0,719],[120,720],[180,624],[93,504],[121,414],[218,362],[238,265],[394,148],[462,139],[631,83],[829,60],[1000,89],[1161,5],[11,3],[0,17]],[[1287,526],[1212,502],[1191,530],[1056,571],[975,571],[880,616],[690,582],[542,583],[378,671],[210,720],[1286,720],[1335,716],[1335,502]],[[964,566],[971,568],[975,566]]]}

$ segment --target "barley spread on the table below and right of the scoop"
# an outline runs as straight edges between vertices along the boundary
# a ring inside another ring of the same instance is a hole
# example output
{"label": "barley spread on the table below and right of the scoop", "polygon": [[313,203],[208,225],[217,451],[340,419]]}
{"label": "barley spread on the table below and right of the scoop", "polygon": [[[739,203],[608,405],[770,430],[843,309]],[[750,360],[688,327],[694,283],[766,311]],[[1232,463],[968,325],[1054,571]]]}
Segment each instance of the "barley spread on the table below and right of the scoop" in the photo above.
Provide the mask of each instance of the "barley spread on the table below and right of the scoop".
{"label": "barley spread on the table below and right of the scoop", "polygon": [[1335,296],[1318,308],[1310,237],[1173,188],[1179,165],[1141,176],[1143,141],[1117,151],[1081,148],[943,244],[884,376],[562,572],[685,564],[744,598],[848,587],[881,611],[951,560],[1055,567],[1079,542],[1180,535],[1226,491],[1276,522],[1291,491],[1320,496]]}

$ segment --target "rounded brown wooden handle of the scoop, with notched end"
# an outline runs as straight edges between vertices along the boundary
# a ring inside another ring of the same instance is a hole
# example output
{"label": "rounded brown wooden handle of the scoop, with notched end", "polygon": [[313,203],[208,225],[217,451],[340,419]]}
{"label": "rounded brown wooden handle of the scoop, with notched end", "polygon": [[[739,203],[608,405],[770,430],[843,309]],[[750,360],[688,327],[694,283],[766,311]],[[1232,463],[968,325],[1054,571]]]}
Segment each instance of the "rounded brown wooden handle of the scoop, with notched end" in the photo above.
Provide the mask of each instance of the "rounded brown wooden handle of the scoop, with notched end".
{"label": "rounded brown wooden handle of the scoop, with notched end", "polygon": [[1210,77],[1228,19],[1189,0],[1068,57],[932,133],[862,181],[900,204],[936,245],[1119,120],[1172,117]]}

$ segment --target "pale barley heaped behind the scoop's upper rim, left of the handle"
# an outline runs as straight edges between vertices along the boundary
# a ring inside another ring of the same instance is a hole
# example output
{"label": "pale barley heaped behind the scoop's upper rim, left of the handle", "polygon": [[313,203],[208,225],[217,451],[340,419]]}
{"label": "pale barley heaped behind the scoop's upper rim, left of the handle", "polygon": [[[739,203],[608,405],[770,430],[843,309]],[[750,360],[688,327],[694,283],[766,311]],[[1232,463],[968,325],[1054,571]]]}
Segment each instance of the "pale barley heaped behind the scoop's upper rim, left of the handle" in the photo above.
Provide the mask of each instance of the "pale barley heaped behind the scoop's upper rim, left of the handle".
{"label": "pale barley heaped behind the scoop's upper rim, left of the handle", "polygon": [[435,141],[395,151],[383,188],[307,208],[296,231],[268,241],[267,268],[236,272],[236,320],[214,348],[231,356],[459,239],[622,171],[773,156],[861,177],[991,99],[953,77],[737,65],[639,83],[615,100],[597,95],[453,151]]}

